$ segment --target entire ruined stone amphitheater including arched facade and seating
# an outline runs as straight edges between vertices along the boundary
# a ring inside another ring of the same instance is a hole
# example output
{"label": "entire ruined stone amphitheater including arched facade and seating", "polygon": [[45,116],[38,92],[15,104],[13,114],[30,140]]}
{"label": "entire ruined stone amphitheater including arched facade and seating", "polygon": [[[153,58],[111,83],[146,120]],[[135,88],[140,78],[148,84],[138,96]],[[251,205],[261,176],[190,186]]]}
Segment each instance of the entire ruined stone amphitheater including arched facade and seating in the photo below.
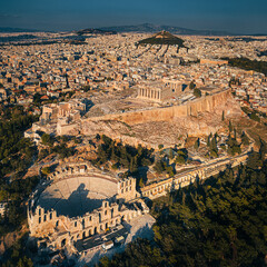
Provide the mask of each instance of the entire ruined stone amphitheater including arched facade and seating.
{"label": "entire ruined stone amphitheater including arched facade and seating", "polygon": [[29,200],[30,235],[39,249],[75,250],[79,239],[148,212],[137,195],[135,178],[120,179],[86,164],[58,167]]}

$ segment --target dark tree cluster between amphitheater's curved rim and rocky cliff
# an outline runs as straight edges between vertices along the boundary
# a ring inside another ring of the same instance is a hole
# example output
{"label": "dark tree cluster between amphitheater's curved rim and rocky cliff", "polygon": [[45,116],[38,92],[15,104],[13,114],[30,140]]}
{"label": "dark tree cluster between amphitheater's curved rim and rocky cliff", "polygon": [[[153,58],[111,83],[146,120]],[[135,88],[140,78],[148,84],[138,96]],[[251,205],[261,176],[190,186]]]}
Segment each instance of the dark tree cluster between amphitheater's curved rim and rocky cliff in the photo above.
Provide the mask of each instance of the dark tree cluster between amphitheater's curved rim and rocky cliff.
{"label": "dark tree cluster between amphitheater's curved rim and rocky cliff", "polygon": [[138,148],[131,146],[123,146],[122,144],[116,144],[111,138],[102,135],[97,136],[97,139],[101,142],[99,145],[95,164],[98,166],[106,164],[107,161],[112,161],[113,168],[126,168],[129,169],[130,174],[135,174],[138,167],[149,166],[154,162],[152,149],[147,149],[141,147]]}

